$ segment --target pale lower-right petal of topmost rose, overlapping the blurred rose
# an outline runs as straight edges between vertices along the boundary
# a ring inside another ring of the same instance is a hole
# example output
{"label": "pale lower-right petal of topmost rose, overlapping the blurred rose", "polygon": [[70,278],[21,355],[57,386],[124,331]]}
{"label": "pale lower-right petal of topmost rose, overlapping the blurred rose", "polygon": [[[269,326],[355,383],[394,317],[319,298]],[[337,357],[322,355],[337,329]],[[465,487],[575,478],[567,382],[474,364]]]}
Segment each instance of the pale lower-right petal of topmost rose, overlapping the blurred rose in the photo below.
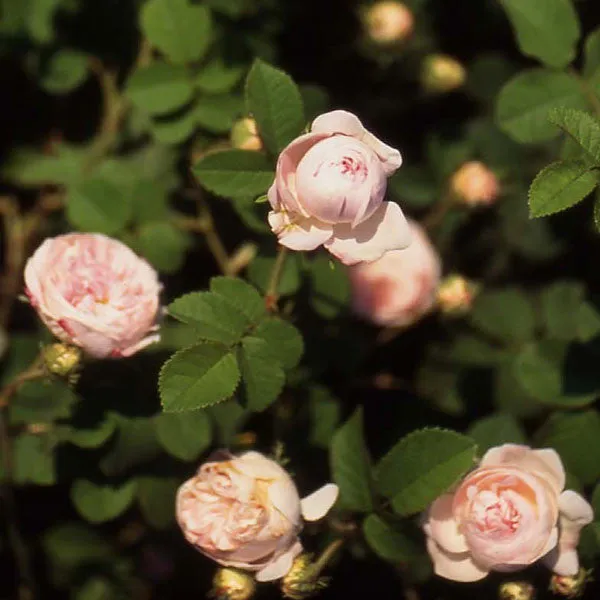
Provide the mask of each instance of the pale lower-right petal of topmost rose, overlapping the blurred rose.
{"label": "pale lower-right petal of topmost rose, overlapping the blurred rose", "polygon": [[333,228],[325,247],[345,265],[374,261],[390,250],[406,248],[411,233],[402,209],[384,202],[373,216],[355,228],[344,223]]}

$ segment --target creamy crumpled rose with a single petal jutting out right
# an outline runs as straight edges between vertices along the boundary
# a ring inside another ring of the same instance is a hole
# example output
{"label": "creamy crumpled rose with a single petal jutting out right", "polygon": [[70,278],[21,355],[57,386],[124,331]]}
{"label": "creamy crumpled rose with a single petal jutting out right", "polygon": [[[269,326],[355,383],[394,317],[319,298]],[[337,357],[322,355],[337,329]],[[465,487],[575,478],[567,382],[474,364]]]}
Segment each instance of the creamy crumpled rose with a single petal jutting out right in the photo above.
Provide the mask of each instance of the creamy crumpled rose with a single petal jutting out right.
{"label": "creamy crumpled rose with a single petal jutting out right", "polygon": [[300,500],[276,462],[258,452],[220,452],[179,488],[177,521],[188,542],[220,565],[272,581],[286,575],[302,551],[302,519],[323,517],[337,494],[337,486],[327,484]]}

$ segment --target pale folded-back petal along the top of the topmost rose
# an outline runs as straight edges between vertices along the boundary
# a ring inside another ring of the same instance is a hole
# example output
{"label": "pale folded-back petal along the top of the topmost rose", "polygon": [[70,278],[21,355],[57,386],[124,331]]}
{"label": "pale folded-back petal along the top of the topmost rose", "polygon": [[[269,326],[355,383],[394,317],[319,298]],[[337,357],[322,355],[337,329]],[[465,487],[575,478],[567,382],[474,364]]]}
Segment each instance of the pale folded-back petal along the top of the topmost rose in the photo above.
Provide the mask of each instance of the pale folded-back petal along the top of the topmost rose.
{"label": "pale folded-back petal along the top of the topmost rose", "polygon": [[312,133],[342,133],[350,135],[370,146],[381,159],[386,175],[391,175],[402,164],[400,152],[365,129],[360,119],[351,112],[334,110],[318,116],[312,123]]}

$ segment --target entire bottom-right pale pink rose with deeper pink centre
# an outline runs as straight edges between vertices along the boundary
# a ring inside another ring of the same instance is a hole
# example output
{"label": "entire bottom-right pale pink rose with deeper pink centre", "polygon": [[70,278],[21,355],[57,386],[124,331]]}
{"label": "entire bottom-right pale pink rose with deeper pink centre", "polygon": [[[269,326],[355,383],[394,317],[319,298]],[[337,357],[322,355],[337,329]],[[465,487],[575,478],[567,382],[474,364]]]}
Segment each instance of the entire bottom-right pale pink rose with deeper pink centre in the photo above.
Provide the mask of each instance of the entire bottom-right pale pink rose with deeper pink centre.
{"label": "entire bottom-right pale pink rose with deeper pink centre", "polygon": [[429,508],[424,528],[435,572],[477,581],[543,559],[559,575],[579,570],[579,532],[593,519],[550,449],[505,444],[489,450],[455,492]]}

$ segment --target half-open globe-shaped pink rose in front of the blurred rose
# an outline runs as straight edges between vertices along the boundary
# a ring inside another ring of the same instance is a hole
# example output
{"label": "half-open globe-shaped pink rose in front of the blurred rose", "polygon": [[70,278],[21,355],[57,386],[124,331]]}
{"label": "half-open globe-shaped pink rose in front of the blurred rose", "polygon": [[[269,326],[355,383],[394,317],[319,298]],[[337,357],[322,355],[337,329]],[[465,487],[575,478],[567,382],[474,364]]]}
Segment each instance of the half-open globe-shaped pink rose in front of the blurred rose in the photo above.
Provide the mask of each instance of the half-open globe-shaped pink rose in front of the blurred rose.
{"label": "half-open globe-shaped pink rose in front of the blurred rose", "polygon": [[352,113],[317,117],[277,161],[269,224],[292,250],[324,245],[343,263],[378,259],[410,243],[397,204],[384,202],[387,178],[402,164]]}

